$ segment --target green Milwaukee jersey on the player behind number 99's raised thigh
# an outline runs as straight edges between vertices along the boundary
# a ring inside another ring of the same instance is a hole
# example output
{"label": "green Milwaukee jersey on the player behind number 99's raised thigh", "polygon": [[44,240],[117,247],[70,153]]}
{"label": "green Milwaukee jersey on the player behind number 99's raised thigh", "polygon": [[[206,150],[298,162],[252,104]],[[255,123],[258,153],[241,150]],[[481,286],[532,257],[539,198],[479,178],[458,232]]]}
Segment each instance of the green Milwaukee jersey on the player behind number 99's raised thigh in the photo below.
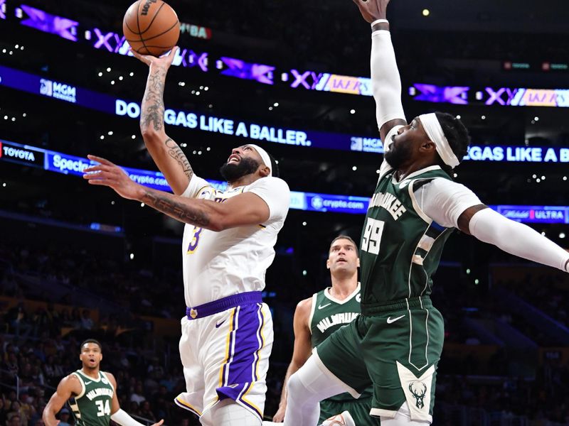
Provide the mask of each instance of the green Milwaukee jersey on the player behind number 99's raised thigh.
{"label": "green Milwaukee jersey on the player behind number 99's raised thigh", "polygon": [[[344,300],[338,300],[330,295],[328,288],[314,293],[309,318],[312,347],[318,346],[337,329],[355,320],[361,312],[360,301],[359,283],[356,290]],[[373,391],[369,389],[363,391],[360,398],[371,398],[372,394]],[[341,393],[328,398],[328,400],[353,400],[353,396],[349,393]]]}

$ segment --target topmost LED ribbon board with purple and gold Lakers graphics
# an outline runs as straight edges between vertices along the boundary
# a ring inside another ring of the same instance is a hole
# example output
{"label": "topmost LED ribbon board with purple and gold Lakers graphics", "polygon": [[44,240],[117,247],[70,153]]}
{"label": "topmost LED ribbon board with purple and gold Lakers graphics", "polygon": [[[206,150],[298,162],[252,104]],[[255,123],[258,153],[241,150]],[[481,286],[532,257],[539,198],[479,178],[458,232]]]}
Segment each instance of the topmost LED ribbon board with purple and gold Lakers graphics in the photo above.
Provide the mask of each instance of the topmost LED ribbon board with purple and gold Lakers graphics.
{"label": "topmost LED ribbon board with purple and gold Lakers graphics", "polygon": [[[0,18],[6,18],[6,0],[0,0]],[[23,13],[28,16],[23,17]],[[78,25],[62,16],[55,16],[46,11],[22,5],[16,9],[16,16],[22,18],[21,24],[36,28],[46,33],[59,35],[68,40],[77,41]],[[81,30],[85,40],[92,47],[107,50],[119,55],[132,55],[124,35],[112,31],[105,32],[100,28],[85,28]],[[278,70],[272,65],[245,62],[237,58],[218,57],[216,69],[221,75],[252,80],[261,84],[275,84],[275,72],[280,75],[280,82],[292,89],[307,89],[319,92],[336,92],[372,96],[371,79],[369,77],[353,77],[336,75],[327,72],[310,70],[299,71]],[[210,72],[209,54],[196,53],[188,48],[176,52],[173,65],[196,67],[203,72]],[[483,87],[479,89],[466,86],[437,86],[435,84],[415,83],[409,87],[411,99],[420,102],[450,103],[450,104],[486,104],[507,107],[569,107],[569,89],[527,89],[509,87]]]}

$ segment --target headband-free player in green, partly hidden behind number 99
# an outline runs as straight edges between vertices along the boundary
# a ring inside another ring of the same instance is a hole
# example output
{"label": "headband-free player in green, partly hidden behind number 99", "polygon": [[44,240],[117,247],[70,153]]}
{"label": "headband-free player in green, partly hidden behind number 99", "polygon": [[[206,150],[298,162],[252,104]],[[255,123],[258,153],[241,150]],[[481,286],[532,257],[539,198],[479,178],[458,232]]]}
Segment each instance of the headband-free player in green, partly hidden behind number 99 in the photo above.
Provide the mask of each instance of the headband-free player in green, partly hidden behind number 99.
{"label": "headband-free player in green, partly hidden behind number 99", "polygon": [[[353,239],[346,235],[337,236],[330,244],[326,260],[331,287],[302,300],[294,311],[294,351],[273,421],[282,422],[285,417],[289,377],[304,365],[314,347],[360,314],[359,265],[358,247]],[[355,422],[358,426],[378,426],[379,421],[368,415],[372,394],[370,388],[358,400],[343,393],[321,401],[319,423],[328,425],[336,421],[334,425],[353,425]],[[334,420],[326,422],[330,417]]]}

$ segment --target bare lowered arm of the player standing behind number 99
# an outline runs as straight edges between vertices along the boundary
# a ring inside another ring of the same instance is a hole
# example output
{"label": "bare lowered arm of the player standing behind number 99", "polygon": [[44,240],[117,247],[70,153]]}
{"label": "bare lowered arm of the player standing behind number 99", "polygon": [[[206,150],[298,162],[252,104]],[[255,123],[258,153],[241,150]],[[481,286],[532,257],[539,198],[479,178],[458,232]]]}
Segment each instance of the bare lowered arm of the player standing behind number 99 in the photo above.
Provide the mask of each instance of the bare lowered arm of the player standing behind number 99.
{"label": "bare lowered arm of the player standing behind number 99", "polygon": [[296,373],[300,367],[309,358],[312,352],[312,339],[310,337],[309,317],[312,309],[312,297],[302,300],[294,310],[294,349],[292,351],[292,360],[285,374],[285,380],[282,382],[282,393],[280,396],[279,409],[272,417],[273,422],[280,423],[285,420],[285,411],[287,410],[287,383],[290,376]]}

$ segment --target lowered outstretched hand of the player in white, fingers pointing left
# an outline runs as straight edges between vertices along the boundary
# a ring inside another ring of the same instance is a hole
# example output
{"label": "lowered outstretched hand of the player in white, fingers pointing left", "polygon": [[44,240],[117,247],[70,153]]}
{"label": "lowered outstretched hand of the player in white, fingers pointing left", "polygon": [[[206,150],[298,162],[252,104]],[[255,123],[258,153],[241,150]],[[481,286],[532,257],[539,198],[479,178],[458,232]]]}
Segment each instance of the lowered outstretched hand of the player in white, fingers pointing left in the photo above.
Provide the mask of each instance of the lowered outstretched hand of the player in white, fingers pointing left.
{"label": "lowered outstretched hand of the player in white, fingers pointing left", "polygon": [[86,179],[90,185],[104,185],[111,187],[118,195],[128,200],[138,200],[141,192],[141,186],[133,182],[124,173],[122,168],[118,165],[111,163],[105,158],[97,157],[96,155],[87,155],[87,158],[97,161],[97,165],[92,165],[85,170],[83,178]]}

